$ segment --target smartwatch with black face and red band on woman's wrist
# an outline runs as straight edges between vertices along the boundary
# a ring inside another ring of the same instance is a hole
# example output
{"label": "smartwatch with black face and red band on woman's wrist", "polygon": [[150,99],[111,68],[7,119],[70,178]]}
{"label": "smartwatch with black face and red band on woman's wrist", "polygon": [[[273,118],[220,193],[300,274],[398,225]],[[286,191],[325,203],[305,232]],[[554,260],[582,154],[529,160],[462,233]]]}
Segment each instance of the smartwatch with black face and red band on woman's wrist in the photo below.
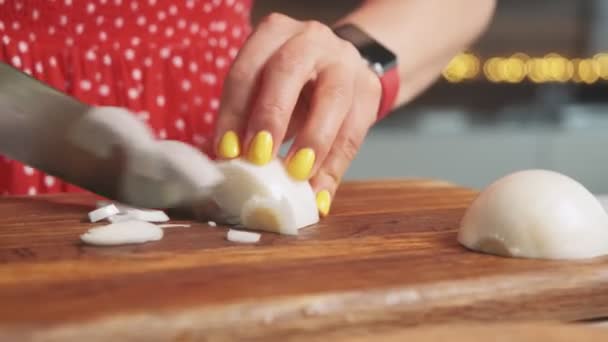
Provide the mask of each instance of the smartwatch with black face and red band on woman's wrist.
{"label": "smartwatch with black face and red band on woman's wrist", "polygon": [[377,120],[381,120],[391,112],[399,93],[397,56],[356,25],[343,24],[335,27],[333,31],[338,37],[352,43],[372,71],[378,75],[382,85],[382,97]]}

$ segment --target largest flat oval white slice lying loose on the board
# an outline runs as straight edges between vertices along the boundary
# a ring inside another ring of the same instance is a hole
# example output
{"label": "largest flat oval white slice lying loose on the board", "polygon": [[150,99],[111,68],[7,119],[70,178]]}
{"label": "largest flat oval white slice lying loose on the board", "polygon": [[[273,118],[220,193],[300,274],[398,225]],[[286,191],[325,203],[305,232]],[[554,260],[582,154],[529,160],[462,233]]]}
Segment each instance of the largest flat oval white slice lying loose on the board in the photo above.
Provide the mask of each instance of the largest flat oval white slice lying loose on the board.
{"label": "largest flat oval white slice lying loose on the board", "polygon": [[80,236],[84,243],[97,246],[139,244],[158,241],[162,238],[162,228],[143,221],[112,223],[89,229],[88,232]]}

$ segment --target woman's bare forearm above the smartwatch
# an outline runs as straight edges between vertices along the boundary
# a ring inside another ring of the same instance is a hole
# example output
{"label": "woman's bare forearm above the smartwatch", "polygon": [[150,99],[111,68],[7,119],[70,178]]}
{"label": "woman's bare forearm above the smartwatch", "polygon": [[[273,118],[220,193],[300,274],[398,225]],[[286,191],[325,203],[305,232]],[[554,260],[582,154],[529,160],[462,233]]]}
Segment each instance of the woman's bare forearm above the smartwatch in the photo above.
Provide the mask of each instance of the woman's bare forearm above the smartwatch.
{"label": "woman's bare forearm above the smartwatch", "polygon": [[367,0],[340,22],[357,24],[398,56],[395,106],[429,87],[485,30],[495,0]]}

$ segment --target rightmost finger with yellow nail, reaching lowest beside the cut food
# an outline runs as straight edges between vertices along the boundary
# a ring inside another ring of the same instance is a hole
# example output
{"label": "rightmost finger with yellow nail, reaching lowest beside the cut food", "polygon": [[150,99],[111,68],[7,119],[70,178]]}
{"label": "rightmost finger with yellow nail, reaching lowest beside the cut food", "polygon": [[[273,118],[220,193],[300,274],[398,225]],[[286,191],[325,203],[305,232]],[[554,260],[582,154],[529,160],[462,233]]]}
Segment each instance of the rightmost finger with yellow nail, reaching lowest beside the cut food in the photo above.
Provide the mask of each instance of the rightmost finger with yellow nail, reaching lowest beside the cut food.
{"label": "rightmost finger with yellow nail, reaching lowest beside the cut food", "polygon": [[354,101],[343,121],[331,149],[311,179],[317,194],[321,216],[329,214],[333,195],[342,176],[355,158],[371,125],[375,122],[380,102],[380,81],[369,69],[360,69]]}

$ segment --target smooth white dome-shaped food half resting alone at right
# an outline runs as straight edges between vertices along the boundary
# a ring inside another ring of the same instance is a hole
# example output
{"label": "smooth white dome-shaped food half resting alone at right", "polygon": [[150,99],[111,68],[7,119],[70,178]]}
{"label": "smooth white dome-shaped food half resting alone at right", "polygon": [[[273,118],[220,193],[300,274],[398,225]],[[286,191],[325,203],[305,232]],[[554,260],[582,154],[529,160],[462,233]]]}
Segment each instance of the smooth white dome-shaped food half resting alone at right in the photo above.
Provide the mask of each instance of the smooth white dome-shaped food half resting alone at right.
{"label": "smooth white dome-shaped food half resting alone at right", "polygon": [[568,176],[519,171],[479,194],[462,218],[458,241],[501,256],[593,258],[608,254],[608,215],[583,185]]}

